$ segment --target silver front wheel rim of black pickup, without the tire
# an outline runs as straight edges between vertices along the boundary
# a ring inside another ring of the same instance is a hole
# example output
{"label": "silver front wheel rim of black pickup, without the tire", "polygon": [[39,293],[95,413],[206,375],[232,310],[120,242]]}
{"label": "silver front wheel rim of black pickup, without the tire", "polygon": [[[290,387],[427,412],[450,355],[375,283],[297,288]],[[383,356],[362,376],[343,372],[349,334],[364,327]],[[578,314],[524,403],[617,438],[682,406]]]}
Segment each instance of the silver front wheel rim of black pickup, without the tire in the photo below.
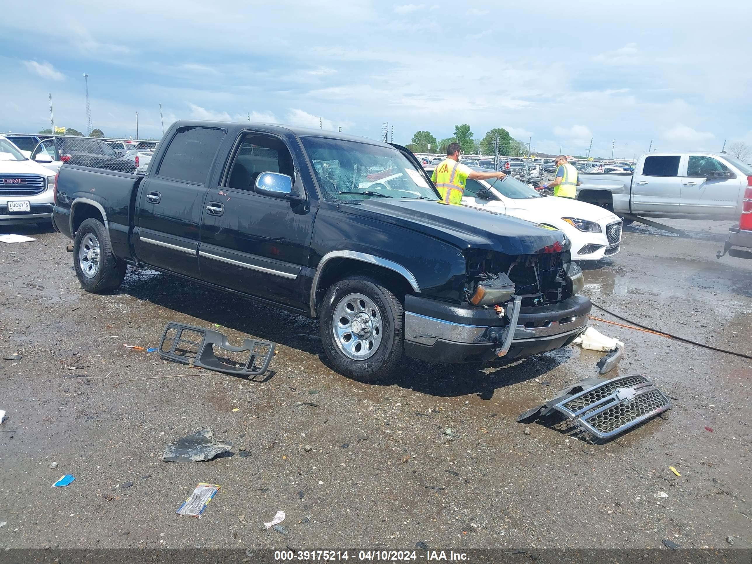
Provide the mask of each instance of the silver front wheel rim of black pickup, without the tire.
{"label": "silver front wheel rim of black pickup, without the tire", "polygon": [[347,294],[334,308],[332,334],[339,350],[350,359],[371,358],[384,335],[381,311],[363,294]]}

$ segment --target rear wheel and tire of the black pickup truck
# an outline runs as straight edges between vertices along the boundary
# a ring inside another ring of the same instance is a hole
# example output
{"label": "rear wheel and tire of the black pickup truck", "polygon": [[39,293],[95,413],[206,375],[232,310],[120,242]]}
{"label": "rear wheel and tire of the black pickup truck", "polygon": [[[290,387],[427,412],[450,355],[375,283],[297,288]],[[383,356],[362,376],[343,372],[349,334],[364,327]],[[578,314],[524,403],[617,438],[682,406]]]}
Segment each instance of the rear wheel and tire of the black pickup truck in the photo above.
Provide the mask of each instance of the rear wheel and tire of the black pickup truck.
{"label": "rear wheel and tire of the black pickup truck", "polygon": [[100,294],[123,284],[128,265],[112,252],[107,229],[98,220],[83,220],[73,243],[73,266],[83,290]]}

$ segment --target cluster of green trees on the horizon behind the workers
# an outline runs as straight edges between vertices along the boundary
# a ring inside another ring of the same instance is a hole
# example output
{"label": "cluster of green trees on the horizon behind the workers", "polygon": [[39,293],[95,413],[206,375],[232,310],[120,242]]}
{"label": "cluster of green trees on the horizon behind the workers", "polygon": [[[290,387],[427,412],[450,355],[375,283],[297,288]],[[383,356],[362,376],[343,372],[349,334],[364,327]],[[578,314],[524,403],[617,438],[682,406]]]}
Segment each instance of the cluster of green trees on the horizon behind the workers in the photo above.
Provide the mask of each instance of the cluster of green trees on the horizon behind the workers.
{"label": "cluster of green trees on the horizon behind the workers", "polygon": [[509,135],[509,132],[502,127],[495,127],[488,131],[484,138],[474,139],[470,126],[463,123],[461,126],[454,126],[454,137],[441,139],[437,141],[431,135],[431,132],[415,132],[412,141],[407,145],[413,153],[447,153],[447,147],[450,143],[459,143],[462,153],[472,155],[493,155],[494,138],[499,134],[499,155],[504,156],[524,156],[527,153],[527,144],[518,141]]}

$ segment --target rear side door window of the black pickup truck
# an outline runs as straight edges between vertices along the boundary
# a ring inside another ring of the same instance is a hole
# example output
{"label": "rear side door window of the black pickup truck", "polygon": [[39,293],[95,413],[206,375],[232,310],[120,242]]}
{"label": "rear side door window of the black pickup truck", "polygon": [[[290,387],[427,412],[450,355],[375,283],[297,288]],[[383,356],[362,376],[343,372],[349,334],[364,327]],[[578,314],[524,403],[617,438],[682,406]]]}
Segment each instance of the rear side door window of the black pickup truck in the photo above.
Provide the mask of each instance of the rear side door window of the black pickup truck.
{"label": "rear side door window of the black pickup truck", "polygon": [[183,182],[205,184],[209,167],[225,135],[222,129],[186,127],[170,141],[156,174]]}

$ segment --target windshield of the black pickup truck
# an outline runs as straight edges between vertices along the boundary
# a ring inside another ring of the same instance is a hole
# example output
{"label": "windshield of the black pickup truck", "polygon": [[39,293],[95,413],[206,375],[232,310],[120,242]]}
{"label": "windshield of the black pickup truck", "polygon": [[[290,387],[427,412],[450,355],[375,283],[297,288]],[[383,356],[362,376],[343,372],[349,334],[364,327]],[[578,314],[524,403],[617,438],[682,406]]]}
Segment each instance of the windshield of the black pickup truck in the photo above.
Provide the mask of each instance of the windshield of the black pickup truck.
{"label": "windshield of the black pickup truck", "polygon": [[421,171],[392,147],[321,137],[302,138],[324,199],[438,199]]}

